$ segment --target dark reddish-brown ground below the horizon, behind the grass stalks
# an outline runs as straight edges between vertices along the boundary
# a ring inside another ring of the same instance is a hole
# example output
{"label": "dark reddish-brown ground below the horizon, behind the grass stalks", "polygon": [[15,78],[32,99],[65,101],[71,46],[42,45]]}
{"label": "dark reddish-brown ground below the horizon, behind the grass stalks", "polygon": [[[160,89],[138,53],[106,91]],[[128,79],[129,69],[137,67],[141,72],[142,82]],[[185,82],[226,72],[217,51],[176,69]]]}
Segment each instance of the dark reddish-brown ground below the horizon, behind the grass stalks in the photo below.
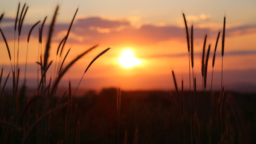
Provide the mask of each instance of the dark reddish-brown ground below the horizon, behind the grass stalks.
{"label": "dark reddish-brown ground below the horizon, behind the grass stalks", "polygon": [[[172,92],[175,98],[177,95]],[[197,92],[198,112],[201,127],[205,126],[204,117],[209,118],[209,94],[206,99],[202,92]],[[73,108],[78,103],[78,119],[81,123],[80,143],[88,144],[117,144],[117,90],[102,89],[98,94],[87,91],[73,100]],[[215,96],[218,96],[216,92]],[[227,111],[230,113],[234,143],[256,143],[256,94],[242,94],[226,92],[229,97]],[[58,102],[59,97],[56,98]],[[179,100],[178,106],[180,106]],[[64,102],[67,101],[67,96]],[[206,103],[207,102],[207,103]],[[204,106],[207,107],[203,111]],[[190,141],[190,104],[189,92],[184,93],[184,124],[187,140]],[[192,94],[192,108],[194,96]],[[61,139],[65,132],[66,109],[56,115],[52,124],[51,143]],[[193,113],[193,112],[192,112]],[[128,144],[133,143],[136,124],[139,126],[139,144],[182,144],[183,131],[174,103],[167,91],[121,91],[120,106],[120,143],[123,143],[125,129],[127,129]],[[208,124],[208,123],[207,123]],[[201,130],[201,139],[204,138]]]}

